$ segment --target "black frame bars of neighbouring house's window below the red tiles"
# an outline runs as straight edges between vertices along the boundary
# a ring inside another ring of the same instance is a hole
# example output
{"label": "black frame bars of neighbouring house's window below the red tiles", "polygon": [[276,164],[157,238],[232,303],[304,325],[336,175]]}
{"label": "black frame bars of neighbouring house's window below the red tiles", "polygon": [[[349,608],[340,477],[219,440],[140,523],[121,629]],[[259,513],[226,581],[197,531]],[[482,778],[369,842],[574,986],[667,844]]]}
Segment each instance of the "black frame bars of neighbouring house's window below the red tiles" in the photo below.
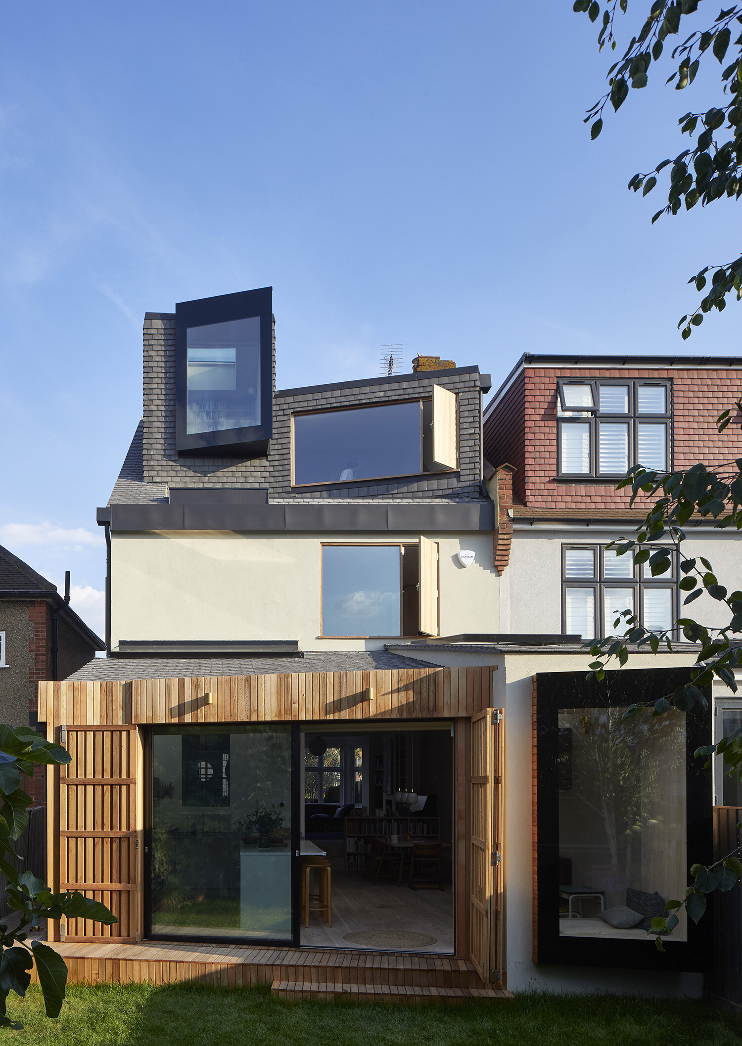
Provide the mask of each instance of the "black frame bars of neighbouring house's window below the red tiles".
{"label": "black frame bars of neighbouring house's window below the red tiles", "polygon": [[[567,553],[569,551],[584,551],[591,553],[593,562],[592,573],[580,575],[571,573],[567,576],[566,561]],[[592,544],[589,542],[565,542],[562,544],[562,634],[571,635],[575,632],[572,622],[568,620],[569,615],[567,612],[567,591],[569,589],[591,589],[594,593],[595,632],[594,635],[583,636],[583,639],[593,639],[597,636],[606,636],[612,634],[613,632],[616,634],[623,634],[623,624],[620,626],[619,629],[613,628],[613,621],[616,619],[614,614],[609,615],[609,619],[606,616],[605,591],[606,589],[626,589],[627,591],[633,593],[633,612],[638,616],[639,624],[650,631],[654,628],[654,623],[651,620],[651,615],[647,612],[645,593],[658,590],[670,592],[670,608],[672,615],[670,638],[672,639],[675,637],[675,622],[678,618],[678,602],[680,597],[680,592],[677,587],[677,554],[674,551],[670,552],[671,569],[667,573],[659,574],[656,577],[652,577],[649,564],[646,563],[638,565],[632,564],[630,576],[611,576],[606,571],[606,559],[609,555],[610,549],[607,549],[605,545]],[[632,556],[632,553],[626,552],[623,556],[615,556],[615,562],[631,562],[629,556]]]}

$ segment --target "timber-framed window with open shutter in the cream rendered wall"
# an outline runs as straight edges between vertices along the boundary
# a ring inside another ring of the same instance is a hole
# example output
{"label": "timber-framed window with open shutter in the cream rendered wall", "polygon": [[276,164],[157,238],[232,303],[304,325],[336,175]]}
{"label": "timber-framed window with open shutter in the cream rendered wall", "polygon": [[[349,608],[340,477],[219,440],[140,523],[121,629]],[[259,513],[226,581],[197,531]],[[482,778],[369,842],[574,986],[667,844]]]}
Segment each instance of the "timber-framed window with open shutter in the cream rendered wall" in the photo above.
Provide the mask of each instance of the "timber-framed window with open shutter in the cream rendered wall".
{"label": "timber-framed window with open shutter in the cream rendered wall", "polygon": [[439,545],[323,544],[323,638],[439,634]]}

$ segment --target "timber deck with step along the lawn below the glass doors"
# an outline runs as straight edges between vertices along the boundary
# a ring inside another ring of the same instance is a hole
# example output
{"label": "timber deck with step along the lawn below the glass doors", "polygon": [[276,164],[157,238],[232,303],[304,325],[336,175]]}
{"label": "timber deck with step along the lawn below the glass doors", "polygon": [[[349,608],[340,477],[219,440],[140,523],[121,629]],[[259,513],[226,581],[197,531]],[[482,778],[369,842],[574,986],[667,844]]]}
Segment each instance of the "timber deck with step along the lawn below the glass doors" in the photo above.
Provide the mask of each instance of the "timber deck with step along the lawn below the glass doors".
{"label": "timber deck with step along the lawn below the glass doors", "polygon": [[72,983],[196,982],[243,987],[269,983],[290,999],[354,998],[431,1002],[504,1000],[512,994],[486,985],[467,959],[409,952],[248,948],[174,941],[49,941]]}

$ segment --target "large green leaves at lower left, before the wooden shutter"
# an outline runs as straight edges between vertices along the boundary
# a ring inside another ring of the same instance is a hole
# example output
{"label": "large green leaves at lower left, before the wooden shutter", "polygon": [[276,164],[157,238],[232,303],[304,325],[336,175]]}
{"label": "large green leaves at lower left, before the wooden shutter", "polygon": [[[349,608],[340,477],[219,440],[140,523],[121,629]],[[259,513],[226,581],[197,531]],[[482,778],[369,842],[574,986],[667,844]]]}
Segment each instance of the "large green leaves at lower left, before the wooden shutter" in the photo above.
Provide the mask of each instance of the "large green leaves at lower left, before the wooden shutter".
{"label": "large green leaves at lower left, before the wooden shutter", "polygon": [[[0,1027],[20,1029],[6,1014],[9,992],[25,996],[36,962],[47,1017],[59,1017],[65,998],[67,967],[53,948],[40,940],[28,945],[26,928],[40,919],[88,918],[111,926],[115,915],[97,901],[91,901],[77,890],[52,893],[42,880],[30,871],[19,874],[7,860],[18,858],[13,840],[18,839],[28,824],[30,796],[21,789],[21,774],[33,776],[36,767],[65,766],[70,756],[64,748],[53,745],[28,727],[0,726],[0,871],[7,880],[7,900],[15,929],[0,925]],[[10,920],[8,920],[9,923]]]}

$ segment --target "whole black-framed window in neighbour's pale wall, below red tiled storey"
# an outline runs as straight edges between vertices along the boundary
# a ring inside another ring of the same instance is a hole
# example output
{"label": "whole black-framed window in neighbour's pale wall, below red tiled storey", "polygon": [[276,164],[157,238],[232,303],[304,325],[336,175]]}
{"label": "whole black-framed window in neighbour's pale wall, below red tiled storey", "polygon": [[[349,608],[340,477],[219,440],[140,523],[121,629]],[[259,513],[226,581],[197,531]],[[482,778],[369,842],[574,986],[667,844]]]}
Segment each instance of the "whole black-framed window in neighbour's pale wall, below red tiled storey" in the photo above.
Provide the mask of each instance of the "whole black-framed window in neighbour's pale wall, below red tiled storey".
{"label": "whole black-framed window in neighbour's pale wall, below red tiled storey", "polygon": [[[562,632],[593,639],[616,633],[623,610],[637,614],[652,631],[672,630],[677,617],[677,565],[652,577],[649,566],[634,563],[633,554],[616,555],[604,545],[562,545]],[[672,638],[672,633],[671,633]]]}

